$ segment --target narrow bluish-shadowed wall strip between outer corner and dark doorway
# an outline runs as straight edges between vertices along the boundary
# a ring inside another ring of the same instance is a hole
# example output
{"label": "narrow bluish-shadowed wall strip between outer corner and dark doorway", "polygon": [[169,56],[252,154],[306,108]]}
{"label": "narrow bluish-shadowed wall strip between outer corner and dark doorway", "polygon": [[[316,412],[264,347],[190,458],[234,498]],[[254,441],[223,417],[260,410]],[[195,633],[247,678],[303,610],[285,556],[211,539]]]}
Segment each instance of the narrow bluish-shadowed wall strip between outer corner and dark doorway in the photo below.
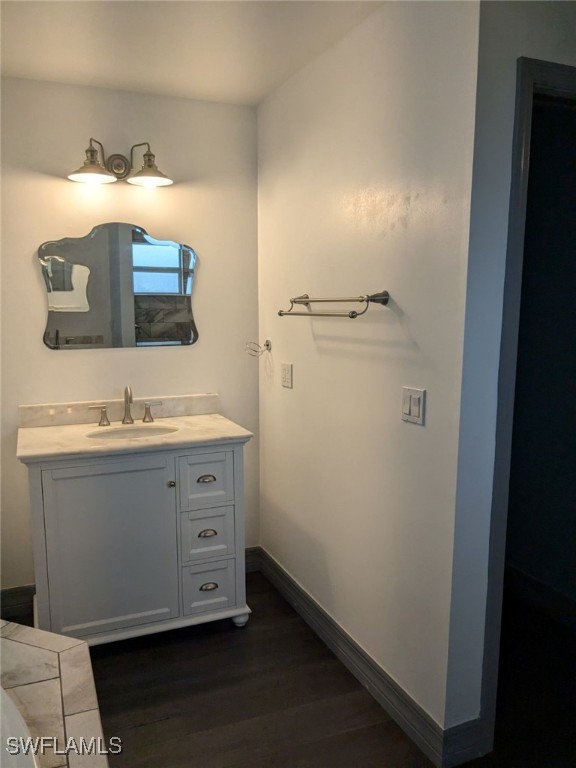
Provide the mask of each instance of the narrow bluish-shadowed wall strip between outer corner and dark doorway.
{"label": "narrow bluish-shadowed wall strip between outer corner and dark doorway", "polygon": [[[447,702],[451,722],[458,717],[462,675],[469,675],[471,668],[476,670],[475,677],[481,672],[520,56],[576,66],[576,3],[486,2],[480,15]],[[503,549],[503,544],[500,541],[498,546]],[[468,628],[467,634],[463,627]]]}

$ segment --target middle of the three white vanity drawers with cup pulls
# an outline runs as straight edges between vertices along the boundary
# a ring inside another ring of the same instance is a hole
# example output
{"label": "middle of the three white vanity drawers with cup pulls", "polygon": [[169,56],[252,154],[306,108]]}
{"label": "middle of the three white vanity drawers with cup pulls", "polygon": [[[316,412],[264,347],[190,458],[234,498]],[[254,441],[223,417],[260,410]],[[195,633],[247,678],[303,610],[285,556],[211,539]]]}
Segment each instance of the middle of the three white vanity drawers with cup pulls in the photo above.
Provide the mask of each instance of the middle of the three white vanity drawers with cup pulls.
{"label": "middle of the three white vanity drawers with cup pulls", "polygon": [[180,515],[182,562],[234,554],[234,507]]}

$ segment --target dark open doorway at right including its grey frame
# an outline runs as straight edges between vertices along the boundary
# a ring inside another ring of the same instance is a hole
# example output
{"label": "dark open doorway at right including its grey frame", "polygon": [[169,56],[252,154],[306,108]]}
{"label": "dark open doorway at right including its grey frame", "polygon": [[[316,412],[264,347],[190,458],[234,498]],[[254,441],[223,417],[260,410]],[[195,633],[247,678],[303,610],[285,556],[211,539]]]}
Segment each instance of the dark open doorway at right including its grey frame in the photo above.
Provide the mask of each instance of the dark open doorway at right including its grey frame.
{"label": "dark open doorway at right including its grey frame", "polygon": [[483,704],[487,717],[496,713],[496,752],[500,741],[523,768],[568,768],[576,717],[575,68],[519,61],[513,163],[489,609],[502,632],[486,638],[493,667],[492,677],[485,668]]}

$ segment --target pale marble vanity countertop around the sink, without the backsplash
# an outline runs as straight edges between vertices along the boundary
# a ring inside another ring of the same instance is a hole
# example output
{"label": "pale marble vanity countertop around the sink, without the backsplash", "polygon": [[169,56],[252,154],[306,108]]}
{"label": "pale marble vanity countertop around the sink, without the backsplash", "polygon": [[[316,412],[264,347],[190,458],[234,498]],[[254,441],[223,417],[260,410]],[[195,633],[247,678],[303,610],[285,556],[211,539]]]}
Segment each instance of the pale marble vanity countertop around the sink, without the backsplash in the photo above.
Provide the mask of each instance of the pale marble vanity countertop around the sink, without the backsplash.
{"label": "pale marble vanity countertop around the sink, without the backsplash", "polygon": [[[218,413],[198,416],[171,416],[155,419],[152,425],[134,422],[134,427],[174,426],[177,430],[147,437],[107,437],[106,430],[119,434],[130,426],[112,422],[110,427],[66,424],[48,427],[21,427],[16,455],[25,464],[42,459],[90,458],[92,456],[144,453],[228,442],[247,442],[252,433]],[[96,437],[90,436],[96,433]]]}

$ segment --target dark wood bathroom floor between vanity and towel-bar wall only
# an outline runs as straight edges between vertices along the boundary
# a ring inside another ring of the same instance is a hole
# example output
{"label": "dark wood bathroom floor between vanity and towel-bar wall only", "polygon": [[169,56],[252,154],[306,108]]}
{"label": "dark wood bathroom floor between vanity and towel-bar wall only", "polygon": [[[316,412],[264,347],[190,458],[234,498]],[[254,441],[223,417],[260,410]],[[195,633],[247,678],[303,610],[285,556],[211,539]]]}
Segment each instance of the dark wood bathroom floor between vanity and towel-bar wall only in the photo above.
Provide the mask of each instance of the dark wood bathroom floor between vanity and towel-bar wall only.
{"label": "dark wood bathroom floor between vanity and towel-bar wall only", "polygon": [[258,573],[230,621],[91,649],[111,768],[430,768]]}

